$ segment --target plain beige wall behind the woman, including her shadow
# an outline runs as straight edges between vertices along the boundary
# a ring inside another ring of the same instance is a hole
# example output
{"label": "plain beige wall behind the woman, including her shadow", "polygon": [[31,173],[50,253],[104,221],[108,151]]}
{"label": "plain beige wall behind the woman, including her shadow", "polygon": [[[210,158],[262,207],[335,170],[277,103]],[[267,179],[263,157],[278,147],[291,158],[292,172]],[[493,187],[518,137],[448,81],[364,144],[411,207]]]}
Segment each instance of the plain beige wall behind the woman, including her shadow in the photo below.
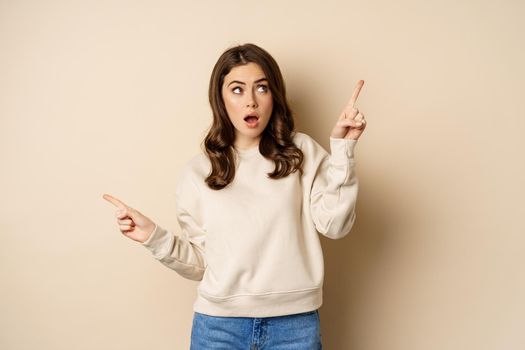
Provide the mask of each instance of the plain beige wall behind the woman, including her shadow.
{"label": "plain beige wall behind the woman, including her shadow", "polygon": [[117,229],[174,188],[233,44],[328,147],[355,83],[358,219],[323,237],[324,346],[525,348],[520,1],[0,1],[0,348],[187,349],[197,282]]}

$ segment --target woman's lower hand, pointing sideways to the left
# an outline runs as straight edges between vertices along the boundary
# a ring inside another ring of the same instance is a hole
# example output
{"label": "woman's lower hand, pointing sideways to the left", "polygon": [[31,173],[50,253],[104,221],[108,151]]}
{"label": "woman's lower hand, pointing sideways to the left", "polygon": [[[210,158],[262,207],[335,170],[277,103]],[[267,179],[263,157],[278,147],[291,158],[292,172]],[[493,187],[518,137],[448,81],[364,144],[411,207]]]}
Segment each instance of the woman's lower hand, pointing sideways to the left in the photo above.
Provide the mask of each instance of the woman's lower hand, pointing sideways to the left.
{"label": "woman's lower hand, pointing sideways to the left", "polygon": [[109,194],[104,194],[102,198],[118,208],[115,216],[117,217],[120,232],[140,243],[148,240],[156,226],[153,221]]}

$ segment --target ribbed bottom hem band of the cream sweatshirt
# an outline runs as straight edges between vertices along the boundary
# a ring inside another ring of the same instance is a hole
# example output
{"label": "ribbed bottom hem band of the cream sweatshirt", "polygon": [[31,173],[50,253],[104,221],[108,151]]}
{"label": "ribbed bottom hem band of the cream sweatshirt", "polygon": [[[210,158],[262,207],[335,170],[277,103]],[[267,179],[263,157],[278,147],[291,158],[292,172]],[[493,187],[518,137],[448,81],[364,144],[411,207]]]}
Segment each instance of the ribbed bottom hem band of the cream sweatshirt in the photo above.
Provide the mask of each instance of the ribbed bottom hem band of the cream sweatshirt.
{"label": "ribbed bottom hem band of the cream sweatshirt", "polygon": [[198,292],[193,310],[210,316],[272,317],[313,311],[323,303],[323,289],[213,298]]}

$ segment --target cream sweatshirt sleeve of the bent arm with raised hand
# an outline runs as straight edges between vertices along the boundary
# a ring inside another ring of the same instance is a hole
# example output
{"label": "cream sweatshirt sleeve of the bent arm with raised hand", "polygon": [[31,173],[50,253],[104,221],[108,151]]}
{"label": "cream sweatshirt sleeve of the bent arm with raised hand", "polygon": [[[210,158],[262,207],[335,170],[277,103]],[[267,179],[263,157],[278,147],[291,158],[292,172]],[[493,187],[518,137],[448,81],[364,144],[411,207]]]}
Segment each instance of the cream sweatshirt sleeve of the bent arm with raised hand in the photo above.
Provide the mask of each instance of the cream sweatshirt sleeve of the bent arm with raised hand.
{"label": "cream sweatshirt sleeve of the bent arm with raised hand", "polygon": [[310,211],[319,233],[331,239],[346,236],[356,218],[358,181],[354,148],[357,140],[330,137],[328,154],[314,142],[316,167],[310,192]]}

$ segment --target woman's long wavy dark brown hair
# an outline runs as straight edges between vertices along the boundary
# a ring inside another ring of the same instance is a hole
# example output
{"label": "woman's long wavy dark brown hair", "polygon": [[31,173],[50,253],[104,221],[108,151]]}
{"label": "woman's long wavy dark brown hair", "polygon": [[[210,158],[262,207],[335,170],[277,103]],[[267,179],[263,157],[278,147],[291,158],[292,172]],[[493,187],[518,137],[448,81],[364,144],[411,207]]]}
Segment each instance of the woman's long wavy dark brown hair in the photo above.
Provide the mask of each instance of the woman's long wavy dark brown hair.
{"label": "woman's long wavy dark brown hair", "polygon": [[208,97],[213,112],[212,125],[204,138],[204,149],[211,162],[211,173],[205,179],[208,187],[220,190],[235,177],[235,127],[222,98],[224,77],[232,68],[253,62],[258,64],[268,80],[273,110],[259,142],[259,152],[275,163],[272,179],[280,179],[299,170],[303,175],[304,155],[293,142],[295,134],[292,110],[286,99],[281,71],[273,57],[261,47],[247,43],[227,49],[217,60],[211,73]]}

